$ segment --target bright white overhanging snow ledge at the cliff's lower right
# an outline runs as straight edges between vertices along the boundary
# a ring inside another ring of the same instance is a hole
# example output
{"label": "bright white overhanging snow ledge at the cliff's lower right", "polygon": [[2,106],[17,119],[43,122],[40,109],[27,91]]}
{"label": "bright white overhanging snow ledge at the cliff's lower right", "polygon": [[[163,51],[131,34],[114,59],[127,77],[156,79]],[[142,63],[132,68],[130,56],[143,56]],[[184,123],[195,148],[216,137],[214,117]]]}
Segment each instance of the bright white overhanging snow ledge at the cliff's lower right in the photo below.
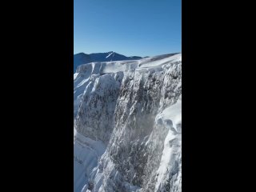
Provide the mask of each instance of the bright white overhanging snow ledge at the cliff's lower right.
{"label": "bright white overhanging snow ledge at the cliff's lower right", "polygon": [[[162,111],[161,114],[158,114],[156,117],[157,124],[162,122],[170,130],[166,135],[164,142],[164,149],[162,150],[162,158],[158,168],[158,182],[155,185],[155,191],[158,191],[159,186],[162,185],[162,182],[166,180],[167,175],[173,176],[176,174],[176,186],[178,186],[178,191],[181,191],[181,164],[178,161],[181,161],[181,152],[182,152],[182,100],[178,99],[174,105],[167,107]],[[177,167],[177,165],[179,167]],[[169,168],[169,169],[168,169]],[[173,169],[173,170],[172,170]],[[176,169],[176,170],[175,170]],[[179,171],[178,171],[179,170]],[[172,171],[174,173],[172,173]],[[176,188],[177,189],[177,188]],[[161,191],[161,190],[160,190]],[[176,191],[176,190],[172,190]]]}

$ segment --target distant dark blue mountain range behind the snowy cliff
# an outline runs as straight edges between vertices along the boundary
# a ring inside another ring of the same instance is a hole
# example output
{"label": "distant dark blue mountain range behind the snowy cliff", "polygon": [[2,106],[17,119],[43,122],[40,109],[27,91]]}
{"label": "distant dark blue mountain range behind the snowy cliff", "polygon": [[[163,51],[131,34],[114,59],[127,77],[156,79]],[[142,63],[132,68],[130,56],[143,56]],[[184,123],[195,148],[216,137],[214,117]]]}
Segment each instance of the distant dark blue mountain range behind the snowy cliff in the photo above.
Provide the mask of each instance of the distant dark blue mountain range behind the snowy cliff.
{"label": "distant dark blue mountain range behind the snowy cliff", "polygon": [[125,55],[117,54],[114,51],[97,54],[74,54],[74,72],[78,66],[89,62],[114,62],[122,60],[138,60],[141,58],[142,57],[138,56],[126,57]]}

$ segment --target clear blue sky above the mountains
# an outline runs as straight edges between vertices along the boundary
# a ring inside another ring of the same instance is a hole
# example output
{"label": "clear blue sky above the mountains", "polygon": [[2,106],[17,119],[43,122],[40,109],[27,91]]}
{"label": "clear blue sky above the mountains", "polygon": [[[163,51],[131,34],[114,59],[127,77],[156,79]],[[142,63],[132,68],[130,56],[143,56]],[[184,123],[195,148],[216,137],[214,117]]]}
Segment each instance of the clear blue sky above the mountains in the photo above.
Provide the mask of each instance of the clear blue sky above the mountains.
{"label": "clear blue sky above the mountains", "polygon": [[182,0],[74,0],[74,54],[182,50]]}

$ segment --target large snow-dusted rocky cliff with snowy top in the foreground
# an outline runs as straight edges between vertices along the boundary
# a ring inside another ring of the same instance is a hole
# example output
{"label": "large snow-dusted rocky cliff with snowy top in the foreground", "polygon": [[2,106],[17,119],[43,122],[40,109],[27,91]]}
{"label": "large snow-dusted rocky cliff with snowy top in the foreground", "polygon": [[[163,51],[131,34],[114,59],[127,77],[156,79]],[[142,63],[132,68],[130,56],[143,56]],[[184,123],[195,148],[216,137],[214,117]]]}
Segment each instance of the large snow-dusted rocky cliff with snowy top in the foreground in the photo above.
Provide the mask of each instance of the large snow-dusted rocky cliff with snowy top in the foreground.
{"label": "large snow-dusted rocky cliff with snowy top in the foreground", "polygon": [[74,74],[74,191],[182,191],[182,54]]}

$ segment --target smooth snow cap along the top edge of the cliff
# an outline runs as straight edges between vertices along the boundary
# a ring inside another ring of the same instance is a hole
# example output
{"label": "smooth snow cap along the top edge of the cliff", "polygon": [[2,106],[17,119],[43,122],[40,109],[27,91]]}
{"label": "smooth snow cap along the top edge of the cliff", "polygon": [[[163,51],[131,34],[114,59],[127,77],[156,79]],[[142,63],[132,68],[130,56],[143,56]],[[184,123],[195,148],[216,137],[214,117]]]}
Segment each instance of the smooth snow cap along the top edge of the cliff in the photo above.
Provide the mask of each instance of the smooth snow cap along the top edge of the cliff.
{"label": "smooth snow cap along the top edge of the cliff", "polygon": [[[109,55],[110,56],[110,55]],[[165,70],[175,62],[182,62],[182,54],[173,56],[158,55],[151,58],[142,58],[140,60],[116,61],[116,62],[91,62],[78,66],[78,72],[74,74],[74,118],[78,112],[78,105],[81,102],[81,96],[94,75],[117,73],[119,71],[140,70],[146,72],[155,72]]]}

